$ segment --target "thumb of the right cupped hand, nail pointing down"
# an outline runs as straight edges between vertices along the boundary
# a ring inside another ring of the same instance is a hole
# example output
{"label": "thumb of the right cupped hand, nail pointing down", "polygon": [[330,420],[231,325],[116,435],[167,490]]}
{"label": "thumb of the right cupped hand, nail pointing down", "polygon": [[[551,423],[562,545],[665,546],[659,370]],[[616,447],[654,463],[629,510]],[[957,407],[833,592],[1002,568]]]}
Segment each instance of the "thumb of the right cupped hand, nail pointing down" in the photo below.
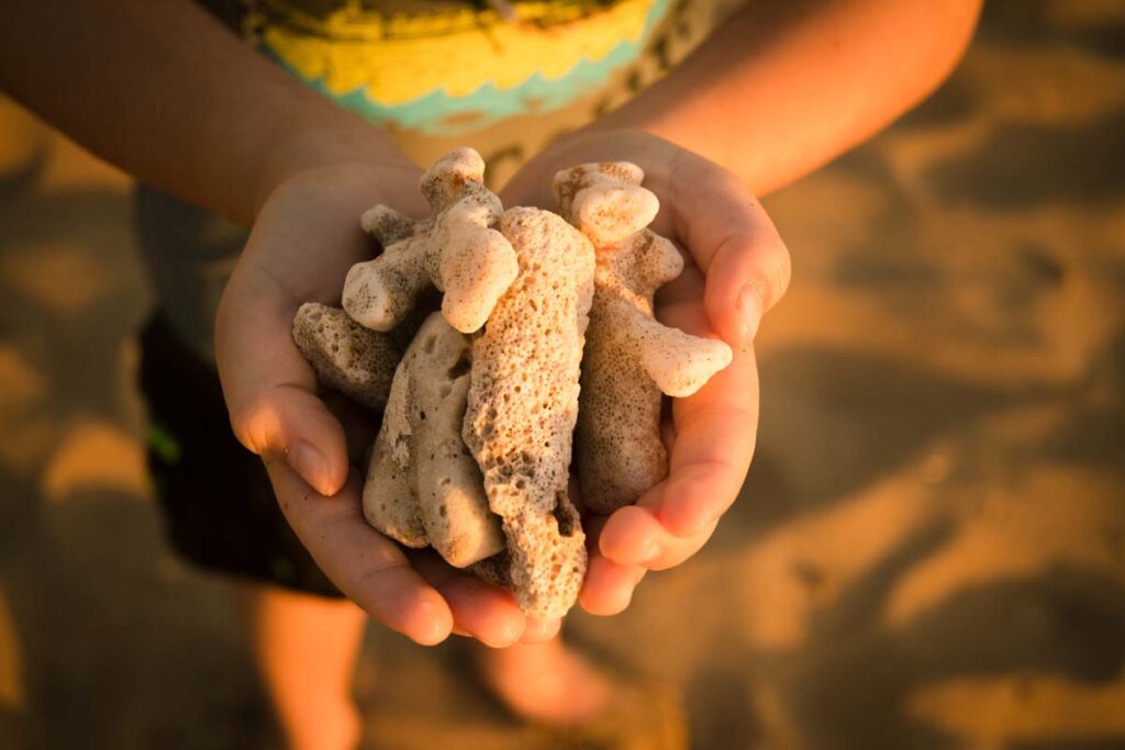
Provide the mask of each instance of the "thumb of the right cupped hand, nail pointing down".
{"label": "thumb of the right cupped hand, nail pointing down", "polygon": [[765,209],[735,175],[687,152],[675,170],[672,220],[706,274],[708,316],[726,342],[745,345],[789,287],[789,251]]}

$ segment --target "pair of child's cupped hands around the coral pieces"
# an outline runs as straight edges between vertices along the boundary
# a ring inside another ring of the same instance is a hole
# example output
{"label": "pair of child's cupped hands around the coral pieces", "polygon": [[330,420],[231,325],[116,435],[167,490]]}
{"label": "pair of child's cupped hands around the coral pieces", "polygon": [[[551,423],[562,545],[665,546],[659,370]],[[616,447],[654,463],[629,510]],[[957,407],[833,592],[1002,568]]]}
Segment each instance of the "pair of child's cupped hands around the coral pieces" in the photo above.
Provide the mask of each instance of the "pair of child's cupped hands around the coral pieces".
{"label": "pair of child's cupped hands around the coral pieces", "polygon": [[[738,495],[757,430],[753,340],[790,271],[773,224],[737,178],[642,133],[585,133],[559,142],[516,174],[502,193],[504,205],[554,209],[555,172],[592,161],[640,165],[662,206],[652,228],[686,250],[684,272],[657,295],[657,317],[692,334],[718,335],[735,350],[732,363],[699,392],[673,400],[664,425],[669,476],[636,506],[584,519],[591,562],[580,602],[591,613],[613,614],[628,606],[647,570],[674,567],[699,551]],[[363,210],[381,202],[425,214],[420,174],[405,161],[334,162],[303,169],[269,191],[216,323],[231,422],[238,440],[263,458],[280,508],[314,560],[374,618],[420,643],[451,632],[496,647],[546,640],[557,621],[528,620],[507,591],[432,551],[404,552],[368,525],[360,499],[364,471],[349,459],[359,460],[364,431],[357,427],[364,421],[330,408],[291,337],[297,308],[338,305],[348,270],[370,257],[371,238],[358,222]],[[366,437],[374,437],[376,425],[367,427]]]}

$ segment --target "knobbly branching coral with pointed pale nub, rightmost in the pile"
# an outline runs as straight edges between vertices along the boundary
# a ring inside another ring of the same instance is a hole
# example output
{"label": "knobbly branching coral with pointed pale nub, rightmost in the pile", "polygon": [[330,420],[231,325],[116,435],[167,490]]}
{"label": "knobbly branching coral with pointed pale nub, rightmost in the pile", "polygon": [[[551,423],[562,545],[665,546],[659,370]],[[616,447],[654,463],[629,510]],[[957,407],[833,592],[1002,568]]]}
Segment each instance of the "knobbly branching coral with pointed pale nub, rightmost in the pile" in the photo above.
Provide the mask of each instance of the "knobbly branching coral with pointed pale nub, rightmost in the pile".
{"label": "knobbly branching coral with pointed pale nub, rightmost in the pile", "polygon": [[667,475],[660,394],[691,396],[730,363],[721,341],[652,317],[652,295],[683,270],[675,246],[647,229],[659,204],[628,162],[582,164],[555,177],[559,213],[597,255],[582,365],[577,463],[583,504],[610,513]]}

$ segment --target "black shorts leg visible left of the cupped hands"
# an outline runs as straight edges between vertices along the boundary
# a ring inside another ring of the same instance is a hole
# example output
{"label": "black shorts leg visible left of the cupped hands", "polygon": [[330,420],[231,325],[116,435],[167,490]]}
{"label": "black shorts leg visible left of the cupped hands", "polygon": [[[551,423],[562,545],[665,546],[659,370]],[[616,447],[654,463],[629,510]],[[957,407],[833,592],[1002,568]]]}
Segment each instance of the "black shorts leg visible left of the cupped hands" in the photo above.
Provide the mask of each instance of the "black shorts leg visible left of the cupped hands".
{"label": "black shorts leg visible left of the cupped hands", "polygon": [[172,546],[209,571],[341,596],[286,523],[261,460],[231,432],[215,367],[159,314],[141,352],[148,470]]}

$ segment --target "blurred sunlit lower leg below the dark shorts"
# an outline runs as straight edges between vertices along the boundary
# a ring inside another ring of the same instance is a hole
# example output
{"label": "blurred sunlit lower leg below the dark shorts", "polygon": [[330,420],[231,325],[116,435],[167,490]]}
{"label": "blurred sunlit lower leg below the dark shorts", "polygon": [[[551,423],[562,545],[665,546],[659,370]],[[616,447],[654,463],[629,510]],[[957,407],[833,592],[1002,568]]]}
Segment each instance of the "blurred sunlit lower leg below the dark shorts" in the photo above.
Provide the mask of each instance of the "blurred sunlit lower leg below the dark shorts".
{"label": "blurred sunlit lower leg below the dark shorts", "polygon": [[367,617],[346,599],[243,585],[240,604],[278,721],[292,750],[354,748],[352,674]]}

